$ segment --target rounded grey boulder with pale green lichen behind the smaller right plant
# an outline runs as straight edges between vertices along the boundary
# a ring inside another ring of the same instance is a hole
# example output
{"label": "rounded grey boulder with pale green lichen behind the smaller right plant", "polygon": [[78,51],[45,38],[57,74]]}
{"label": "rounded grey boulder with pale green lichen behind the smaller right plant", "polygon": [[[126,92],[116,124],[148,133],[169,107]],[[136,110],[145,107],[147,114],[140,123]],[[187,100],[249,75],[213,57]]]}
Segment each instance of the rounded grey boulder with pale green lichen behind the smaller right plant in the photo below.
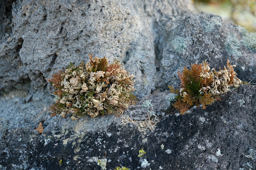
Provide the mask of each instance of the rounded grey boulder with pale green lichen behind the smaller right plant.
{"label": "rounded grey boulder with pale green lichen behind the smaller right plant", "polygon": [[215,14],[190,14],[174,22],[159,43],[161,64],[157,85],[179,85],[178,71],[184,66],[207,61],[211,68],[226,66],[227,59],[237,65],[235,71],[243,81],[256,77],[256,33],[223,21]]}

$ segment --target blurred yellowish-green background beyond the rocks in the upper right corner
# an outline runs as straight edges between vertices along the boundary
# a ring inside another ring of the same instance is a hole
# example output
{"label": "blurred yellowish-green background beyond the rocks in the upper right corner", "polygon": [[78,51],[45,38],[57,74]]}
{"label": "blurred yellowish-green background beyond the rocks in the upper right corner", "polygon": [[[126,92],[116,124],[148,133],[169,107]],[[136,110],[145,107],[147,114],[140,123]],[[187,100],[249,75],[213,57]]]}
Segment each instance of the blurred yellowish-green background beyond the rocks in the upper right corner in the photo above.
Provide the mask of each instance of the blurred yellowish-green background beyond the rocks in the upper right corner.
{"label": "blurred yellowish-green background beyond the rocks in the upper right corner", "polygon": [[255,0],[192,0],[196,10],[220,15],[225,20],[256,31]]}

